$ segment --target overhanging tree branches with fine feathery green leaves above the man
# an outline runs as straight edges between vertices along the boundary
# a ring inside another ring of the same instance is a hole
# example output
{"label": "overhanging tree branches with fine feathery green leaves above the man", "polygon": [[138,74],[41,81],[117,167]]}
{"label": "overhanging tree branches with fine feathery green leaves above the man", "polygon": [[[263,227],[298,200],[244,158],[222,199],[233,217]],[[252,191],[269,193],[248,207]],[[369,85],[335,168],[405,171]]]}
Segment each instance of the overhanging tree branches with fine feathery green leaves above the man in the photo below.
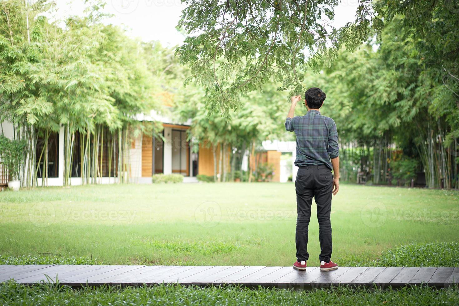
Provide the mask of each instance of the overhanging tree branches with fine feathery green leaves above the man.
{"label": "overhanging tree branches with fine feathery green leaves above the man", "polygon": [[342,28],[333,20],[338,0],[187,0],[178,27],[189,35],[177,49],[180,61],[205,89],[209,112],[227,119],[240,97],[271,79],[289,97],[300,94],[304,73],[330,67],[342,45],[353,51],[383,22],[380,9],[360,1],[355,20]]}

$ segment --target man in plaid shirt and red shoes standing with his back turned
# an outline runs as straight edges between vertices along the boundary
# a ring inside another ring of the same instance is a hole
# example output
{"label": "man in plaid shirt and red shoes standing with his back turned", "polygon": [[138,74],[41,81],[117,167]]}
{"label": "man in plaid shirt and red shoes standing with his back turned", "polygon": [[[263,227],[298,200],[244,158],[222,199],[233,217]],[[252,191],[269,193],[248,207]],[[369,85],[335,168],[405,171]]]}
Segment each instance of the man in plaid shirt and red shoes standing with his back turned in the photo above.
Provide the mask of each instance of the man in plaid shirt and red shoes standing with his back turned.
{"label": "man in plaid shirt and red shoes standing with his back turned", "polygon": [[[308,253],[308,225],[311,218],[311,204],[317,204],[319,221],[320,270],[330,271],[338,268],[331,258],[331,195],[339,189],[340,161],[338,132],[333,119],[322,116],[319,108],[325,100],[325,93],[313,87],[304,94],[304,104],[308,112],[304,116],[293,117],[295,106],[301,96],[291,97],[291,107],[285,119],[285,129],[297,136],[298,166],[295,189],[297,192],[297,261],[293,267],[306,270]],[[331,174],[331,170],[335,177]],[[335,186],[335,189],[333,189]]]}

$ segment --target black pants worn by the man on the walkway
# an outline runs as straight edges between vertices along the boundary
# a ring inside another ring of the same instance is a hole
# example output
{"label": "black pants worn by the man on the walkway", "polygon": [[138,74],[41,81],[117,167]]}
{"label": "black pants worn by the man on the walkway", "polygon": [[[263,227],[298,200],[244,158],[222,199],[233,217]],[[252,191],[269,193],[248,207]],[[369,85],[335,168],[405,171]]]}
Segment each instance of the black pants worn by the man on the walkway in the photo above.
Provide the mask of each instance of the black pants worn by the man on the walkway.
{"label": "black pants worn by the man on the walkway", "polygon": [[319,260],[328,262],[331,258],[331,196],[333,192],[333,176],[325,165],[299,167],[295,180],[297,191],[297,260],[308,260],[308,225],[311,219],[311,204],[317,204],[317,220],[319,221]]}

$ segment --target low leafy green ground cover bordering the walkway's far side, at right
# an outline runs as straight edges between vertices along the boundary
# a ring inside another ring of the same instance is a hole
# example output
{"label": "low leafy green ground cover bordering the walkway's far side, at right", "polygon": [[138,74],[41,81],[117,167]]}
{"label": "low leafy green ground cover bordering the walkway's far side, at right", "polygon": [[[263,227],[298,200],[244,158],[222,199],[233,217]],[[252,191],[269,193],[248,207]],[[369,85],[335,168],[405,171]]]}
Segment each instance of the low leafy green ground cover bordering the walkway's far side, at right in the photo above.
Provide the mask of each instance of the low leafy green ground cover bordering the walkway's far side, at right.
{"label": "low leafy green ground cover bordering the walkway's far side, at right", "polygon": [[385,252],[376,261],[383,267],[458,267],[458,242],[412,243]]}

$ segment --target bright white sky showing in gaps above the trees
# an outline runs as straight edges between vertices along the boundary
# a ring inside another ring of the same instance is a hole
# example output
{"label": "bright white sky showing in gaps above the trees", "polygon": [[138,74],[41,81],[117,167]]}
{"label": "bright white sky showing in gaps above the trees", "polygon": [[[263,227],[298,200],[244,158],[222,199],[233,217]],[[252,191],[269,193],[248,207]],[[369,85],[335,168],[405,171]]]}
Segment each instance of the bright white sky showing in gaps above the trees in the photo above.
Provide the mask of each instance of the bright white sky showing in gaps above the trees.
{"label": "bright white sky showing in gaps above the trees", "polygon": [[[57,15],[83,14],[84,0],[56,0]],[[124,25],[135,37],[144,41],[159,40],[162,45],[181,45],[185,37],[175,26],[185,8],[180,0],[106,0],[106,11],[115,16],[110,23]],[[343,0],[330,24],[339,28],[355,19],[358,0]]]}

